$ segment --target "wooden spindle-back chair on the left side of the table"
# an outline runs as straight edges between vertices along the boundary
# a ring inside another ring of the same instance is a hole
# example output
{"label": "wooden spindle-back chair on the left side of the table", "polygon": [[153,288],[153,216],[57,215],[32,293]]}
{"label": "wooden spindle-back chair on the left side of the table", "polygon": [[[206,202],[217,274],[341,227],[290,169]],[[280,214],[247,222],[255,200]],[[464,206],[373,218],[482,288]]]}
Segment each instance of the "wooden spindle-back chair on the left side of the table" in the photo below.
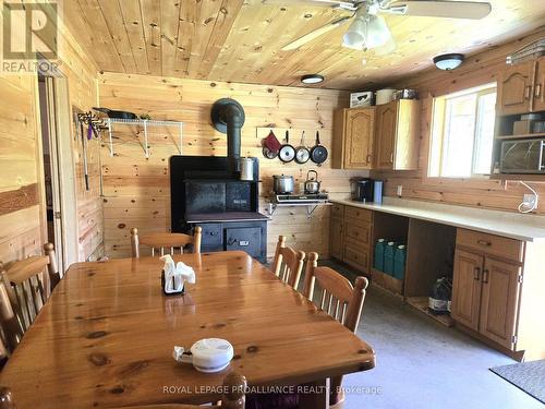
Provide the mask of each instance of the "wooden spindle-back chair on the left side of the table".
{"label": "wooden spindle-back chair on the left side of the table", "polygon": [[53,244],[44,244],[44,250],[46,255],[16,261],[5,268],[0,265],[1,280],[23,332],[28,329],[61,278]]}

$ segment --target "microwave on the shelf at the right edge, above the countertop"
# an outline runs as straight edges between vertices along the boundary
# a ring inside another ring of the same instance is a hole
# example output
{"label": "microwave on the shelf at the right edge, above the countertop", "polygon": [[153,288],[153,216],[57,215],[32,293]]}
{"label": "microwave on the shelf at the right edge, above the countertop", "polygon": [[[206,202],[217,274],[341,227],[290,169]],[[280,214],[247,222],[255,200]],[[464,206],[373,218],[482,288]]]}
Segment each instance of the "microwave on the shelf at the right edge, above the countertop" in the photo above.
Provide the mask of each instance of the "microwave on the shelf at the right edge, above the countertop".
{"label": "microwave on the shelf at the right edge, above the countertop", "polygon": [[500,173],[545,173],[545,139],[501,142]]}

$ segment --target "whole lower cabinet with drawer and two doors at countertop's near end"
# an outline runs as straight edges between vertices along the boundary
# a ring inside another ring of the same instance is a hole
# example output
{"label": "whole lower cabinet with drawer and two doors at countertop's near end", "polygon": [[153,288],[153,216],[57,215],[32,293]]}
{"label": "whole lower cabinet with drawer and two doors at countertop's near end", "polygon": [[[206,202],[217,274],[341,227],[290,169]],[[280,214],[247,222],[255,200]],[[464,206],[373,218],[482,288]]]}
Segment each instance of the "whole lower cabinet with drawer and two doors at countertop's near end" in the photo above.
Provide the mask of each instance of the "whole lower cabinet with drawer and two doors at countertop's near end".
{"label": "whole lower cabinet with drawer and two doors at countertop's near end", "polygon": [[[472,238],[479,240],[472,242]],[[502,245],[520,249],[522,243],[458,229],[451,315],[458,323],[512,350],[517,342],[522,265],[513,252],[506,251],[505,260],[500,260],[497,254]]]}

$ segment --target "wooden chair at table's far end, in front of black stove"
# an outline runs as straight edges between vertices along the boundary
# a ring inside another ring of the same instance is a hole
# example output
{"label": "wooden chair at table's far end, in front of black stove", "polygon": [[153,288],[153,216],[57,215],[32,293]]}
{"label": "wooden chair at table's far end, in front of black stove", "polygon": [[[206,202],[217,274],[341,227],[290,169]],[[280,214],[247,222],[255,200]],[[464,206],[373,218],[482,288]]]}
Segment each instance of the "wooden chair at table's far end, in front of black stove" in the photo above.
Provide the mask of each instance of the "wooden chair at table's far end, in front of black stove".
{"label": "wooden chair at table's far end, in front of black stove", "polygon": [[[135,258],[140,257],[140,246],[147,245],[152,248],[152,256],[155,256],[155,251],[159,250],[160,255],[175,254],[175,250],[180,249],[180,254],[183,254],[183,249],[186,245],[193,245],[193,253],[201,253],[201,241],[203,238],[203,228],[195,227],[193,236],[183,233],[152,233],[140,236],[137,228],[131,229],[131,250]],[[166,252],[167,250],[167,252]],[[170,252],[168,252],[170,251]]]}

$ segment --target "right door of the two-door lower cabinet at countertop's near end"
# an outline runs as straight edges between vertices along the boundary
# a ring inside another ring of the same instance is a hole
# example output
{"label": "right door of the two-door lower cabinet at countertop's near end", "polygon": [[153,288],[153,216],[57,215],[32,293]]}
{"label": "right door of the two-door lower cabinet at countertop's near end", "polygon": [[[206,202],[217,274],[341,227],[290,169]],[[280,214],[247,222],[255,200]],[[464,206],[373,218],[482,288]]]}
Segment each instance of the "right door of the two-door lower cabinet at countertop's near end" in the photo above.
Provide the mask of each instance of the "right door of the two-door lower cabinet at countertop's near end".
{"label": "right door of the two-door lower cabinet at countertop's near end", "polygon": [[486,257],[479,330],[511,349],[516,334],[521,267]]}

